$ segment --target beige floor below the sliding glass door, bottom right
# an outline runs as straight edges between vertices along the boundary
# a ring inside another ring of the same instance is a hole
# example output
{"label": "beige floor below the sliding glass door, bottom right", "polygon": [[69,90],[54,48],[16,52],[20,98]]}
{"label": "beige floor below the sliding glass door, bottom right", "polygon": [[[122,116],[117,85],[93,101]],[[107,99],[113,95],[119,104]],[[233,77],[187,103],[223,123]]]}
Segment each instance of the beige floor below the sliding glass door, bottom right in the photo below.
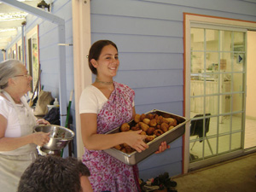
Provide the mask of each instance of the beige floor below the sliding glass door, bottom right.
{"label": "beige floor below the sliding glass door, bottom right", "polygon": [[177,192],[255,192],[256,153],[172,177]]}

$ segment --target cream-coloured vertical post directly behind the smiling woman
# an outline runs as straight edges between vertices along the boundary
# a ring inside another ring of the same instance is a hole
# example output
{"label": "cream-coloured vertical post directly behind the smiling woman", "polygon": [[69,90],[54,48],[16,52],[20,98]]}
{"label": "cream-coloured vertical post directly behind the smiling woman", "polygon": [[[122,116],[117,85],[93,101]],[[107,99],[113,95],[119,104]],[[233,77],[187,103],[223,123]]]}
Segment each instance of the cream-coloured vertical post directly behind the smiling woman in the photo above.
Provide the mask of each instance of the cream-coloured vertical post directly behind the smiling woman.
{"label": "cream-coloured vertical post directly behind the smiling woman", "polygon": [[91,84],[91,72],[86,55],[90,49],[90,1],[72,1],[73,7],[73,73],[78,158],[84,154],[81,137],[79,98],[86,85]]}

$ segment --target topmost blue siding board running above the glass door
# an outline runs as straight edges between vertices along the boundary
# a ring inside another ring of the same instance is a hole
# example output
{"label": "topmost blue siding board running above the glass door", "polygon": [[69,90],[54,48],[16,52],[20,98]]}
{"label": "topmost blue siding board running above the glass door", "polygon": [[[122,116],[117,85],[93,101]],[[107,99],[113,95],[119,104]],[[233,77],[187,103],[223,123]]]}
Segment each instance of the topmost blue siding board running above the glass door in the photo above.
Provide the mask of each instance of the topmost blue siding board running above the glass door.
{"label": "topmost blue siding board running above the glass door", "polygon": [[[162,20],[182,20],[183,12],[195,10],[199,14],[202,9],[207,11],[233,13],[255,16],[255,3],[234,0],[188,1],[188,0],[94,0],[91,1],[91,13],[102,15],[124,15],[131,17],[155,18]],[[218,16],[218,15],[216,15]]]}

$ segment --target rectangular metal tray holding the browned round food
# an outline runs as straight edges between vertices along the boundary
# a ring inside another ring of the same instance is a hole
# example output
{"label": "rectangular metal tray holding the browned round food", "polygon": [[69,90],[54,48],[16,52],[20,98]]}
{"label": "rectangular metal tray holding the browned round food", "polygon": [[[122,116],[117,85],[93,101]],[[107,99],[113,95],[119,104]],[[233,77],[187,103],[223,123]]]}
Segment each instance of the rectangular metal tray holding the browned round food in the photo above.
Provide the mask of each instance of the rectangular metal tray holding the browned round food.
{"label": "rectangular metal tray holding the browned round food", "polygon": [[[173,118],[177,119],[178,125],[172,128],[170,131],[166,131],[159,137],[154,138],[153,141],[148,143],[149,148],[146,148],[143,152],[138,153],[137,151],[132,152],[131,154],[125,154],[124,152],[116,149],[116,148],[108,148],[104,151],[110,155],[112,155],[114,158],[124,162],[127,165],[135,165],[139,163],[140,161],[147,158],[150,154],[154,154],[155,151],[159,149],[160,143],[166,142],[166,143],[172,143],[175,139],[178,137],[181,137],[185,132],[185,125],[187,122],[189,122],[189,119],[186,119],[182,116],[178,116],[176,114],[167,113],[164,111],[160,111],[157,109],[154,109],[152,111],[149,111],[148,113],[157,113],[158,115],[163,116],[164,118]],[[147,113],[145,113],[147,114]],[[129,125],[135,125],[136,123],[134,120],[131,120],[129,122]],[[117,127],[112,131],[108,131],[106,134],[111,133],[117,133],[119,132],[119,128]]]}

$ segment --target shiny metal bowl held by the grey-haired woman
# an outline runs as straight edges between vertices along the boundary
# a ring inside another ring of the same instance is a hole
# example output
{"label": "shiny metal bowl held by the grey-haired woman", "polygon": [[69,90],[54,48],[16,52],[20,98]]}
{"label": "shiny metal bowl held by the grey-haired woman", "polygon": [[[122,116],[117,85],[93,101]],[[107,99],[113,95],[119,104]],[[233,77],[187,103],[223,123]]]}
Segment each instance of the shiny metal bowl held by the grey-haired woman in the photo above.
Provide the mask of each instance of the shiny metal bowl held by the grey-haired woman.
{"label": "shiny metal bowl held by the grey-haired woman", "polygon": [[62,148],[65,148],[75,136],[73,131],[59,125],[37,125],[33,127],[33,131],[42,131],[46,133],[50,132],[49,143],[46,143],[43,146],[43,148],[49,150],[61,150]]}

